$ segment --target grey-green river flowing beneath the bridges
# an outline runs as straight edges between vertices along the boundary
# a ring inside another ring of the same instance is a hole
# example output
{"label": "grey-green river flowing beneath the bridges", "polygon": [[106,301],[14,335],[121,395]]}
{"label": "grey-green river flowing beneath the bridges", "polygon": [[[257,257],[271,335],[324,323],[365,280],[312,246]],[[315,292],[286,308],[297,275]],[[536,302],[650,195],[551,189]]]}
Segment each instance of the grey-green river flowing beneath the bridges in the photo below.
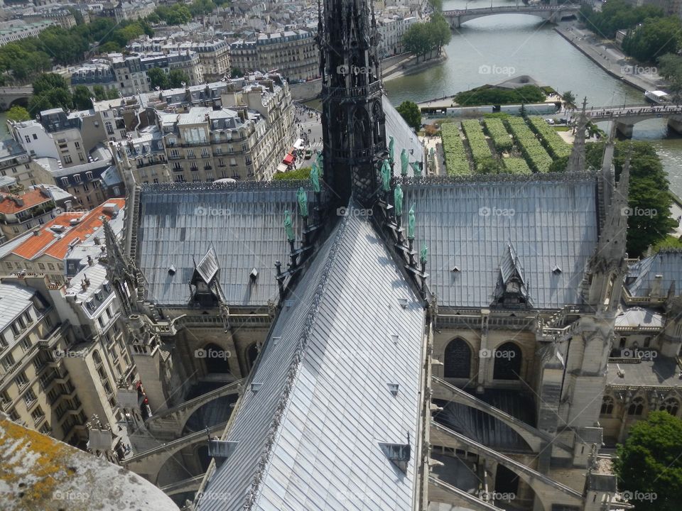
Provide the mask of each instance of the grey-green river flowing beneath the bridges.
{"label": "grey-green river flowing beneath the bridges", "polygon": [[[510,4],[514,2],[492,0],[494,6]],[[490,1],[445,0],[443,9],[490,5]],[[580,100],[587,97],[588,105],[644,103],[643,92],[608,75],[558,35],[552,25],[534,16],[504,14],[469,21],[454,31],[445,52],[448,60],[443,64],[386,82],[391,103],[428,101],[518,75],[529,75],[558,92],[570,90]],[[600,123],[600,127],[607,128],[607,123]],[[682,138],[667,133],[663,119],[635,124],[632,138],[654,143],[671,189],[682,195]]]}

